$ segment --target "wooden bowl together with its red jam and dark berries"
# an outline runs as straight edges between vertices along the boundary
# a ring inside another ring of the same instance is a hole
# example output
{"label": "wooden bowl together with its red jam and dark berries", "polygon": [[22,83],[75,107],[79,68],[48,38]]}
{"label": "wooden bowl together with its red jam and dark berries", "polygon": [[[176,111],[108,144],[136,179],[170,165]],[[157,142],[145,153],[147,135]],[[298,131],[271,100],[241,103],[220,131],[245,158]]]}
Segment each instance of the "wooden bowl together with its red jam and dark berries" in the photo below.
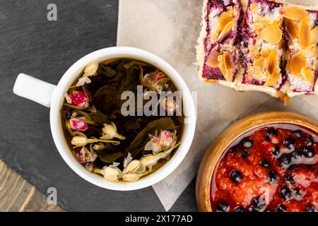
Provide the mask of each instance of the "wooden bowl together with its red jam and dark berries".
{"label": "wooden bowl together with its red jam and dark berries", "polygon": [[208,148],[196,180],[201,211],[318,210],[318,121],[266,112],[237,121]]}

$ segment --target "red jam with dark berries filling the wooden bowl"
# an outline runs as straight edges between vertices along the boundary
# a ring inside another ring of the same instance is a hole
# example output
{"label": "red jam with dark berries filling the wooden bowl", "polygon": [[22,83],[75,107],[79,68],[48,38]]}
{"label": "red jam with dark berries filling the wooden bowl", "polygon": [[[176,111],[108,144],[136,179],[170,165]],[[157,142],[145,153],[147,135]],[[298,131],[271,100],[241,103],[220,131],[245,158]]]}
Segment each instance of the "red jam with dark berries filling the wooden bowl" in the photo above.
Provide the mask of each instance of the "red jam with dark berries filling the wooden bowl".
{"label": "red jam with dark berries filling the wooden bowl", "polygon": [[241,138],[213,172],[212,210],[317,211],[317,142],[317,134],[288,124]]}

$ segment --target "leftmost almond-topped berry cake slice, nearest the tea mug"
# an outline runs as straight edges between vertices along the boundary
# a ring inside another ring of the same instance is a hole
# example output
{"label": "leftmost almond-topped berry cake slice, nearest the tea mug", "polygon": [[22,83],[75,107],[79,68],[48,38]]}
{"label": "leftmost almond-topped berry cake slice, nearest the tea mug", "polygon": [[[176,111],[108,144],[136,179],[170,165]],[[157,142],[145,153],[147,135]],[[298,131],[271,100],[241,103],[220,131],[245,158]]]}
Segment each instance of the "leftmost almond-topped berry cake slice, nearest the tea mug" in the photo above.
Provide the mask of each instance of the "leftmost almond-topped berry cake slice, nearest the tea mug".
{"label": "leftmost almond-topped berry cake slice, nearest the tea mug", "polygon": [[239,0],[205,0],[197,47],[201,77],[212,83],[235,86],[238,64]]}

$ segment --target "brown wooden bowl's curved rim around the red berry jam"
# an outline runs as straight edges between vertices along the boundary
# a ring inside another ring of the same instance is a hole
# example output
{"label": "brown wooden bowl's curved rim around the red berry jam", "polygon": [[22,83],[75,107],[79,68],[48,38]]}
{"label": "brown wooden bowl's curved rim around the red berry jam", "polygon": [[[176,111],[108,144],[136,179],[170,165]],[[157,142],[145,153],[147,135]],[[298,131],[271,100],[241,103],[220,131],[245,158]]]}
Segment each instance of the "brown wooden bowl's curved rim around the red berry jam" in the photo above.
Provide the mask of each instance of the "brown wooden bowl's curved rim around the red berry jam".
{"label": "brown wooden bowl's curved rim around the red berry jam", "polygon": [[318,121],[292,112],[264,112],[240,119],[223,131],[206,151],[196,177],[196,203],[199,211],[212,212],[211,179],[218,160],[233,141],[253,129],[270,124],[291,124],[318,133]]}

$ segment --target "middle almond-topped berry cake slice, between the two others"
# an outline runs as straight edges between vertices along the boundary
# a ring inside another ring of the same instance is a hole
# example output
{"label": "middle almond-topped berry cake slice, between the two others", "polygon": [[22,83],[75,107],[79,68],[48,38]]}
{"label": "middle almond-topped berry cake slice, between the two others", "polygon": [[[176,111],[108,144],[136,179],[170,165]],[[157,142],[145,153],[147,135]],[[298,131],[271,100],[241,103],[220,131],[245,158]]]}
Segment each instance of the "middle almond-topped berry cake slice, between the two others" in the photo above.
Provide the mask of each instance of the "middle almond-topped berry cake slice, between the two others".
{"label": "middle almond-topped berry cake slice, between the two others", "polygon": [[285,83],[281,70],[283,54],[283,4],[249,0],[241,29],[237,90],[261,90],[277,97]]}

